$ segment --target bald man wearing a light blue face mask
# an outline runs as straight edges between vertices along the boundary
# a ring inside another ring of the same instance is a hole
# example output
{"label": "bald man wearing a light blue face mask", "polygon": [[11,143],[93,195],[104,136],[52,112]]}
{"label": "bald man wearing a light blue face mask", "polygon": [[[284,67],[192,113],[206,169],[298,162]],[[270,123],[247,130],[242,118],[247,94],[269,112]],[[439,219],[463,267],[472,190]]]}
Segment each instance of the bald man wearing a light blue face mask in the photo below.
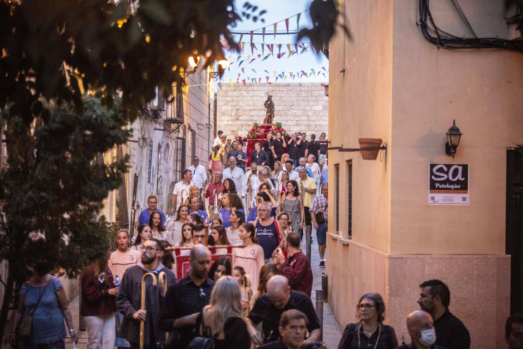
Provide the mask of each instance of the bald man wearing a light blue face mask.
{"label": "bald man wearing a light blue face mask", "polygon": [[411,336],[411,344],[403,344],[396,349],[445,349],[434,344],[436,342],[434,320],[423,310],[408,314],[407,331]]}

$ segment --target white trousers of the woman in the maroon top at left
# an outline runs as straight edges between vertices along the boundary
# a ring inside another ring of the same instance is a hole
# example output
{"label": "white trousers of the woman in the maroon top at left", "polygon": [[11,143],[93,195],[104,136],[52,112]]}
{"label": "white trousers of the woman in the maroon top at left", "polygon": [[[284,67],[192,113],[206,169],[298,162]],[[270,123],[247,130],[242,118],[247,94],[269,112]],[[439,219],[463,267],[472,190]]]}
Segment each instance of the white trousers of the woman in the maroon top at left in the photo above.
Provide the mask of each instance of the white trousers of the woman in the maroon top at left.
{"label": "white trousers of the woman in the maroon top at left", "polygon": [[87,349],[114,349],[116,340],[115,314],[84,317],[87,328]]}

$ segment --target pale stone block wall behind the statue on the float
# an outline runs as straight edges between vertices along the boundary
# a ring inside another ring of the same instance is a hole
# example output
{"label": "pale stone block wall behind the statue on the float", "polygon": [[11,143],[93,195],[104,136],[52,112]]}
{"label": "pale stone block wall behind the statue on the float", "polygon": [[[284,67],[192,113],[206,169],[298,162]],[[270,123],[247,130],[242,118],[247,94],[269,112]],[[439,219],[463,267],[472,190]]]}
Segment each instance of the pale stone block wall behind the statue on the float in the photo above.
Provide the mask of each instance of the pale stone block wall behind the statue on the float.
{"label": "pale stone block wall behind the statue on the float", "polygon": [[247,136],[255,122],[263,123],[268,92],[275,104],[274,122],[281,122],[289,134],[305,132],[309,139],[314,133],[318,139],[328,130],[328,97],[320,83],[309,85],[223,83],[217,91],[217,128],[227,135]]}

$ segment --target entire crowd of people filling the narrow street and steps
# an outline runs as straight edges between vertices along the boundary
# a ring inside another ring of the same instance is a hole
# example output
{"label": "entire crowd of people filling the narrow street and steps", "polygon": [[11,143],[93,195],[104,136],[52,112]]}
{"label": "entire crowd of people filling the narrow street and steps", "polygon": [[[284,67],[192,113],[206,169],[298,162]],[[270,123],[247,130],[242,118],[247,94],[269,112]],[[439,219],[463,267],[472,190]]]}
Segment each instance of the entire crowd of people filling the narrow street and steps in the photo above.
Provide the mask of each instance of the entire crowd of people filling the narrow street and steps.
{"label": "entire crowd of people filling the narrow street and steps", "polygon": [[[194,157],[176,183],[168,216],[150,195],[134,223],[137,234],[120,230],[118,248],[83,272],[80,314],[88,348],[203,348],[208,341],[217,349],[323,347],[310,299],[311,264],[301,242],[303,231],[314,227],[325,267],[325,134],[320,142],[315,135],[305,138],[293,134],[285,154],[281,135],[268,134],[247,168],[244,144],[219,132],[207,169]],[[213,261],[211,246],[217,255],[232,253]],[[190,267],[179,280],[173,249],[188,257]],[[20,290],[13,334],[30,315],[25,347],[62,349],[64,319],[77,341],[63,286],[38,265],[31,271]],[[366,293],[356,304],[359,321],[346,326],[338,349],[469,349],[467,328],[449,311],[447,285],[428,280],[419,289],[420,310],[406,319],[410,344],[399,345],[392,326],[383,324],[382,297]],[[522,349],[522,338],[523,314],[515,314],[507,320],[510,349]]]}

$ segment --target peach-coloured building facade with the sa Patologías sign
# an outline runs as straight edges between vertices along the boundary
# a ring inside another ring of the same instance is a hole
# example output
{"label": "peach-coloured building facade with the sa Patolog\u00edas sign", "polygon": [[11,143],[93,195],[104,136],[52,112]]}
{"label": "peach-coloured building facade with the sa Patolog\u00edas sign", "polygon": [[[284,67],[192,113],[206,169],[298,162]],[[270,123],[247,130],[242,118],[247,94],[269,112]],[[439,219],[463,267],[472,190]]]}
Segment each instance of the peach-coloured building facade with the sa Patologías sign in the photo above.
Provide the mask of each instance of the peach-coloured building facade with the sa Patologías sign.
{"label": "peach-coloured building facade with the sa Patolog\u00edas sign", "polygon": [[[503,2],[461,5],[479,37],[514,34]],[[329,44],[330,146],[380,138],[386,150],[374,161],[329,150],[326,272],[335,317],[340,326],[356,322],[359,298],[378,292],[385,322],[408,342],[418,285],[440,279],[471,347],[504,348],[505,320],[518,310],[510,280],[520,281],[508,253],[520,226],[509,225],[507,192],[523,182],[510,149],[523,143],[523,55],[438,49],[416,26],[416,0],[342,6],[352,39],[337,35]],[[450,1],[430,10],[440,28],[470,35]],[[454,119],[463,136],[451,157],[445,143]],[[467,204],[429,203],[431,163],[468,165]]]}

